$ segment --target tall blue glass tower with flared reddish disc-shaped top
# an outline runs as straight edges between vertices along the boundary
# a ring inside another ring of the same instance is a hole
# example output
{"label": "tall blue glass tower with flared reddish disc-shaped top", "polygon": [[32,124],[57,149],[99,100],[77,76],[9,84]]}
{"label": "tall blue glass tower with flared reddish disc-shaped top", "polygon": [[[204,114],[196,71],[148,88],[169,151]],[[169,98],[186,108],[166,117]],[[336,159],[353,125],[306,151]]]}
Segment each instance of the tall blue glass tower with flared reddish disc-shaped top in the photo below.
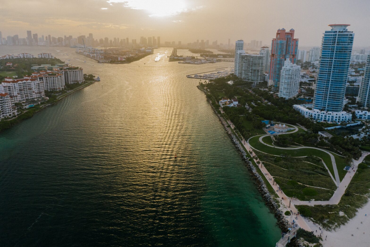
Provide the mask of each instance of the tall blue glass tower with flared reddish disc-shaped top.
{"label": "tall blue glass tower with flared reddish disc-shaped top", "polygon": [[314,93],[313,108],[340,112],[348,79],[354,33],[349,24],[332,24],[324,33],[321,45],[320,68]]}

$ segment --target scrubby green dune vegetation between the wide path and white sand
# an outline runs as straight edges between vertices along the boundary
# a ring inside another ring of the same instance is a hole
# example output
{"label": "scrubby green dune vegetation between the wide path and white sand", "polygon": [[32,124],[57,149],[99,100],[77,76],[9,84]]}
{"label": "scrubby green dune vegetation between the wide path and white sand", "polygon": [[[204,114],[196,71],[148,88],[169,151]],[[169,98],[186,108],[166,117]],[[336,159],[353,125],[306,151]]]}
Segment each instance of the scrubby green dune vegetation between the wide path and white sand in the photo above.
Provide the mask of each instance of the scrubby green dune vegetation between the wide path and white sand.
{"label": "scrubby green dune vegetation between the wide path and white sand", "polygon": [[367,203],[370,190],[369,177],[370,167],[365,169],[358,168],[348,185],[346,193],[337,205],[296,205],[296,207],[301,213],[306,211],[307,217],[312,218],[325,229],[335,230],[337,227],[346,224],[356,215],[357,209]]}

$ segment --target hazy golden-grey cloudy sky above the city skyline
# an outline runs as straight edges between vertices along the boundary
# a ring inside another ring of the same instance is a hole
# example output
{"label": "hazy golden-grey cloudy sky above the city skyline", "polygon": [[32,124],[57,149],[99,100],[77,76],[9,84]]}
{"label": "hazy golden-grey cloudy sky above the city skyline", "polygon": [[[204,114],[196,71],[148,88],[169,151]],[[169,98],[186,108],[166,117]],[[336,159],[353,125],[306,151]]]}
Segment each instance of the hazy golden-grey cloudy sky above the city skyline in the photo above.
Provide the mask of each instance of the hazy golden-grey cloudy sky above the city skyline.
{"label": "hazy golden-grey cloudy sky above the city skyline", "polygon": [[277,29],[293,28],[299,45],[319,46],[327,25],[336,23],[351,25],[354,47],[369,47],[369,9],[369,0],[2,0],[0,31],[270,45]]}

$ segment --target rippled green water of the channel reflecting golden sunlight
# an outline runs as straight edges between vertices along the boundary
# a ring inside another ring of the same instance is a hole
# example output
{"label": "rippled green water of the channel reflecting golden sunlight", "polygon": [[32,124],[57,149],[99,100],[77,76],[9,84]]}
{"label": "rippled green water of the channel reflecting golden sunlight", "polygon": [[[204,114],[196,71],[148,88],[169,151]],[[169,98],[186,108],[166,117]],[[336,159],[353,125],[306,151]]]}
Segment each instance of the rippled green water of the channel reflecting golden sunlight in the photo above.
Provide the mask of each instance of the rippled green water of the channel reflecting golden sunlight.
{"label": "rippled green water of the channel reflecting golden sunlight", "polygon": [[185,77],[233,63],[167,62],[163,48],[109,65],[0,46],[47,51],[101,82],[0,133],[1,246],[275,246],[276,219]]}

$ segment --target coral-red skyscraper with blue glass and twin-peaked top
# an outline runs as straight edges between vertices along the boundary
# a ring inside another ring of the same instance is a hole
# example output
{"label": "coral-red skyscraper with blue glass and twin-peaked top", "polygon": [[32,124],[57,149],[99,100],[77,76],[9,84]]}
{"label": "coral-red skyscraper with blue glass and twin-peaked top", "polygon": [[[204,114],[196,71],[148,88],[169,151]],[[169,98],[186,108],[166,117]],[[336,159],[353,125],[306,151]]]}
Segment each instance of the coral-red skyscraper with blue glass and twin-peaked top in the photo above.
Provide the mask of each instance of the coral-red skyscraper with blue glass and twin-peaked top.
{"label": "coral-red skyscraper with blue glass and twin-peaked top", "polygon": [[273,91],[279,91],[280,72],[286,59],[296,63],[298,50],[298,39],[294,38],[294,29],[286,32],[285,29],[278,29],[276,37],[271,42],[269,86],[273,86]]}

